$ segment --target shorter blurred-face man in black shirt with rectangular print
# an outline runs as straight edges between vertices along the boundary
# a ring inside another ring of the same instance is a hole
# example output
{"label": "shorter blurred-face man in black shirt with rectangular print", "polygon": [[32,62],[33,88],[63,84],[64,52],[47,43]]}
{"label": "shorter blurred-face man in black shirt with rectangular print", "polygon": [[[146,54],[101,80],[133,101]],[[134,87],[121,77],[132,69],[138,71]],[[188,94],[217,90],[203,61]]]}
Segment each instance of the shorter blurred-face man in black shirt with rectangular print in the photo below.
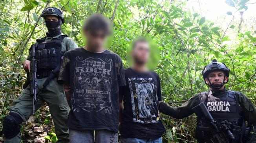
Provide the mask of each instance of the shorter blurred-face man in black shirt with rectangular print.
{"label": "shorter blurred-face man in black shirt with rectangular print", "polygon": [[146,68],[150,55],[148,41],[137,39],[131,53],[133,66],[124,70],[126,86],[119,89],[121,141],[162,143],[165,127],[159,116],[161,85],[157,73]]}

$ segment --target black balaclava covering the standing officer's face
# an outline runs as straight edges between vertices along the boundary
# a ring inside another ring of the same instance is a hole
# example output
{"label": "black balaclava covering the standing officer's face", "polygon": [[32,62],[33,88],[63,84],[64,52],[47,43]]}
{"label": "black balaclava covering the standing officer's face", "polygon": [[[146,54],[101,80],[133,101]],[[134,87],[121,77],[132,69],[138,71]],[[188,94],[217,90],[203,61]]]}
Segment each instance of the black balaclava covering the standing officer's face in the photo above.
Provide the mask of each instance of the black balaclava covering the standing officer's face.
{"label": "black balaclava covering the standing officer's face", "polygon": [[45,21],[45,24],[48,29],[48,32],[46,32],[47,37],[54,37],[61,34],[61,19],[59,19],[59,21]]}

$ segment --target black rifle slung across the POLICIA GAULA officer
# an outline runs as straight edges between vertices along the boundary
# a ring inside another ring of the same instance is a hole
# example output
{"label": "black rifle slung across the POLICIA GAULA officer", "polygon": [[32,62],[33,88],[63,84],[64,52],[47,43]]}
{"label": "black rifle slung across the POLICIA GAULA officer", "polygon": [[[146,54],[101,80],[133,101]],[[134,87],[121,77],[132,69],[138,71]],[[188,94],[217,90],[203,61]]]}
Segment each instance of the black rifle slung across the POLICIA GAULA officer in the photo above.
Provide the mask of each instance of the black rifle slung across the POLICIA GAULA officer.
{"label": "black rifle slung across the POLICIA GAULA officer", "polygon": [[213,134],[213,138],[209,139],[205,143],[229,143],[230,140],[235,139],[234,135],[229,130],[231,123],[225,120],[218,124],[214,118],[212,118],[205,102],[201,102],[199,105],[194,107],[193,111],[195,111],[197,116],[205,117],[211,124],[210,127],[200,127],[201,130],[206,132],[210,131]]}

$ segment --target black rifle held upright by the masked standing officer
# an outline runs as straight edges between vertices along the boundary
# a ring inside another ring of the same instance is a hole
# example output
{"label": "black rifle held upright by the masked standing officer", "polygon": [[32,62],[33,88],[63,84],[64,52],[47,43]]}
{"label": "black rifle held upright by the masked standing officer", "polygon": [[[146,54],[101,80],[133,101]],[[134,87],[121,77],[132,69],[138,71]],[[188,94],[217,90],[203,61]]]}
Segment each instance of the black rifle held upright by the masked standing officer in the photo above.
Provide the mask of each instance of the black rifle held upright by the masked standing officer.
{"label": "black rifle held upright by the masked standing officer", "polygon": [[29,71],[30,79],[30,94],[33,97],[32,100],[32,114],[35,115],[35,103],[37,102],[37,59],[35,58],[35,44],[32,45],[31,49],[31,63]]}

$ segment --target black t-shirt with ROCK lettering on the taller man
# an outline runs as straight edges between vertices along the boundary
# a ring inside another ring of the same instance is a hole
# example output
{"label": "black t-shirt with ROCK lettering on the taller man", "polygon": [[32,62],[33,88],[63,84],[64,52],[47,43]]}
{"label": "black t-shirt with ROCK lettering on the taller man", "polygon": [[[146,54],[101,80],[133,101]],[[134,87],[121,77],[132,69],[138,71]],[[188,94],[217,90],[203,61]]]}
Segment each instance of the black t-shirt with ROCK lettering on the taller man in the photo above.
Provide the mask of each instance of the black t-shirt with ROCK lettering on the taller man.
{"label": "black t-shirt with ROCK lettering on the taller man", "polygon": [[76,48],[65,53],[59,80],[70,82],[70,129],[118,131],[119,86],[124,86],[121,58],[109,50]]}

